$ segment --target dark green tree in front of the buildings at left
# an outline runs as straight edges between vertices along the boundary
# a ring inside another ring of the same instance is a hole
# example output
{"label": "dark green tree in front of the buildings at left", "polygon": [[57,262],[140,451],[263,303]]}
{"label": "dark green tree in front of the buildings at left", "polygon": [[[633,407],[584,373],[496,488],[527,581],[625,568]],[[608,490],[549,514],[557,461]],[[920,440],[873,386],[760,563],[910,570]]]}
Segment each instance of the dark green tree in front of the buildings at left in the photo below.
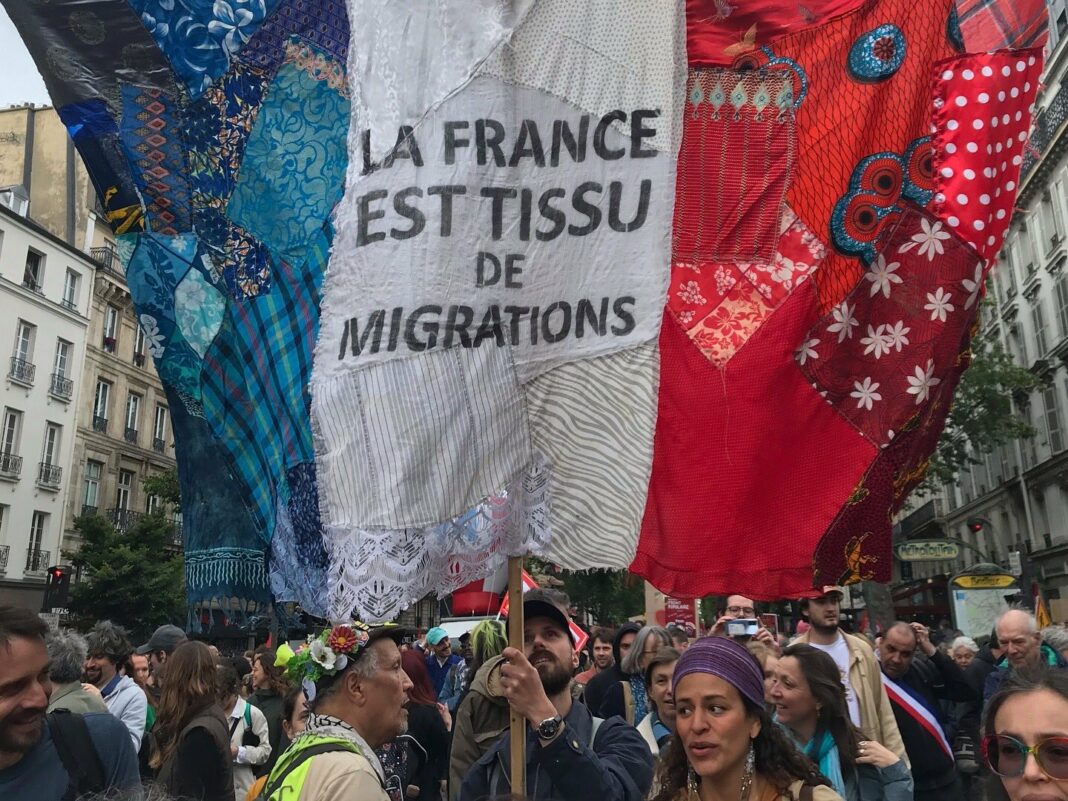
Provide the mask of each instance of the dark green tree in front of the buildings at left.
{"label": "dark green tree in front of the buildings at left", "polygon": [[120,532],[99,515],[83,515],[74,525],[82,546],[70,562],[81,580],[69,610],[79,626],[113,621],[144,640],[164,623],[185,625],[185,565],[169,520],[145,515]]}

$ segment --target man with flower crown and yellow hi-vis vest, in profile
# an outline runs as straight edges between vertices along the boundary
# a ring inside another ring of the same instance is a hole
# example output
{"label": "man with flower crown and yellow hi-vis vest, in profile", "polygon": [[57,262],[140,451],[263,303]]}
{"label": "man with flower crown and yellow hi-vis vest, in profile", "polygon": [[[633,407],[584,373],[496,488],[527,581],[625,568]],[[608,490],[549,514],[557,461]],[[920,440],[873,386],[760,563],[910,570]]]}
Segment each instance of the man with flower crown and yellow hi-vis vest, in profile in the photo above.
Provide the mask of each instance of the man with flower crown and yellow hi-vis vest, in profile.
{"label": "man with flower crown and yellow hi-vis vest, in profile", "polygon": [[404,633],[396,626],[334,626],[289,658],[286,672],[303,687],[308,725],[276,764],[261,799],[389,801],[375,749],[408,726]]}

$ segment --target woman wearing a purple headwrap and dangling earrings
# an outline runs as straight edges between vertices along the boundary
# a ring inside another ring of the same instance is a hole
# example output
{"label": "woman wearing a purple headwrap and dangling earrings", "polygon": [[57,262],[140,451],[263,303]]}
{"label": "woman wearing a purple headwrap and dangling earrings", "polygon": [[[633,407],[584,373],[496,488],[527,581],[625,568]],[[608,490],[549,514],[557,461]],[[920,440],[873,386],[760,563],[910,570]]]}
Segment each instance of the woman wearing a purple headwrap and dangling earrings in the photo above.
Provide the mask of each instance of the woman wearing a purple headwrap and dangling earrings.
{"label": "woman wearing a purple headwrap and dangling earrings", "polygon": [[841,801],[771,720],[760,665],[742,645],[697,640],[675,664],[672,691],[675,734],[653,801]]}

